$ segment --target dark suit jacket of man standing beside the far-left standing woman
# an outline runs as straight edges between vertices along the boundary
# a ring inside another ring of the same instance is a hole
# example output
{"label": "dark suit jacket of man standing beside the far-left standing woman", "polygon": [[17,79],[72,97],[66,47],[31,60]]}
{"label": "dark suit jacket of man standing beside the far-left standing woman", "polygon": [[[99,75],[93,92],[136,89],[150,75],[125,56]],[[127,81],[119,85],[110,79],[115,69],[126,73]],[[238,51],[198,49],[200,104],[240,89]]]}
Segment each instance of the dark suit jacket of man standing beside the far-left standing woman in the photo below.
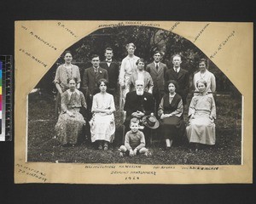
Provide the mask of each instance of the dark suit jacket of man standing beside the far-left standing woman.
{"label": "dark suit jacket of man standing beside the far-left standing woman", "polygon": [[86,97],[90,94],[94,95],[99,92],[97,82],[102,78],[108,80],[108,71],[105,69],[99,67],[97,74],[93,67],[85,69],[82,80],[82,89],[84,89]]}

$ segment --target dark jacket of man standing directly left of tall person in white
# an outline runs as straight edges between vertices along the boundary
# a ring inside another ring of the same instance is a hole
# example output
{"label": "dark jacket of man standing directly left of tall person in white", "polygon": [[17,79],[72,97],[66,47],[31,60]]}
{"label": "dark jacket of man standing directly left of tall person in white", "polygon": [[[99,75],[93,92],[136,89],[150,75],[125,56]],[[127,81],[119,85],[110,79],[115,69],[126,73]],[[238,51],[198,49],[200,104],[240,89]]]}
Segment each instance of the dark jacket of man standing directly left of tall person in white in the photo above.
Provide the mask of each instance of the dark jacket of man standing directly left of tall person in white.
{"label": "dark jacket of man standing directly left of tall person in white", "polygon": [[108,66],[108,63],[103,61],[100,66],[108,71],[108,88],[117,88],[117,82],[119,78],[119,65],[112,61]]}

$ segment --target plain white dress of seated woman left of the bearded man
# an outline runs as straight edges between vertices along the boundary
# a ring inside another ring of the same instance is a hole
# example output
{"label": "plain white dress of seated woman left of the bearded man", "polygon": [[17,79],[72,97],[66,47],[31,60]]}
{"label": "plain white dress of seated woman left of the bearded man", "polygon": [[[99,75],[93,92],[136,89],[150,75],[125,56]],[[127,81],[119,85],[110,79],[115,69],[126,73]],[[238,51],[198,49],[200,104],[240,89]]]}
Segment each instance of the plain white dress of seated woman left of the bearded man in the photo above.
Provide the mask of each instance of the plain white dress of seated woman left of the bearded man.
{"label": "plain white dress of seated woman left of the bearded man", "polygon": [[115,111],[113,95],[108,93],[94,95],[91,107],[93,116],[90,120],[91,142],[96,140],[113,142],[113,133],[115,132],[113,113],[108,115],[107,113],[95,112],[96,109]]}

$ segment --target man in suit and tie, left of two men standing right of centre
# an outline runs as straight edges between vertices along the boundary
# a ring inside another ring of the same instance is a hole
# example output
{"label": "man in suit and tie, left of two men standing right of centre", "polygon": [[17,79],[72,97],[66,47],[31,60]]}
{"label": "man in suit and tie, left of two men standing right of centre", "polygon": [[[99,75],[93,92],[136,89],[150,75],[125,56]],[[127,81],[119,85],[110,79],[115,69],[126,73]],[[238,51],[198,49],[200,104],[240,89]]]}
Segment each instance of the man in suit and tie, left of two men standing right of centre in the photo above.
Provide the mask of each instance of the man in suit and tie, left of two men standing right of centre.
{"label": "man in suit and tie, left of two men standing right of centre", "polygon": [[165,75],[167,66],[160,62],[161,54],[159,50],[154,51],[154,62],[148,64],[146,71],[150,74],[154,82],[153,96],[154,96],[154,114],[156,116],[157,110],[160,105],[160,100],[165,94]]}

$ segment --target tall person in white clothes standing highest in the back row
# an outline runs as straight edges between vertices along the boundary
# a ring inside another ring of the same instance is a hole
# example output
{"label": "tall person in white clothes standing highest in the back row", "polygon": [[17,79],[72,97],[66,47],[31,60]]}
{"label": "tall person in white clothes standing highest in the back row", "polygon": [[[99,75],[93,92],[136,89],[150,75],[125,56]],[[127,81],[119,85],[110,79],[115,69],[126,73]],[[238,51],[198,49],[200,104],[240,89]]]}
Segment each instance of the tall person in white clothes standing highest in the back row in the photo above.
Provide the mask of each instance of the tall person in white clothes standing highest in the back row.
{"label": "tall person in white clothes standing highest in the back row", "polygon": [[121,68],[119,71],[119,84],[121,88],[120,92],[120,109],[123,110],[125,105],[125,96],[129,92],[128,82],[131,77],[131,74],[134,71],[137,71],[137,57],[134,55],[136,46],[134,43],[129,43],[126,45],[126,50],[128,55],[122,60]]}

